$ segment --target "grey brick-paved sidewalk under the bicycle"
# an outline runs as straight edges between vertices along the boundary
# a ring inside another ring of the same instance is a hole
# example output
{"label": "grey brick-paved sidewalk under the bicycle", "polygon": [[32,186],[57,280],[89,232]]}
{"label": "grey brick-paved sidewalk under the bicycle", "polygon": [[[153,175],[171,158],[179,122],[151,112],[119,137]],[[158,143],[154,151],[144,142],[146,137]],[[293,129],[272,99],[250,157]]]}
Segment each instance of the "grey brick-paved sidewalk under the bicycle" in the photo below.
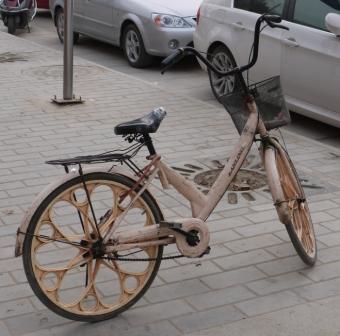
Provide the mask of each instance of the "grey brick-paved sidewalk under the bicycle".
{"label": "grey brick-paved sidewalk under the bicycle", "polygon": [[[4,33],[0,41],[1,336],[339,335],[340,151],[288,132],[286,144],[307,185],[318,237],[313,269],[297,257],[263,187],[246,198],[238,194],[235,204],[227,193],[208,221],[211,254],[162,263],[151,289],[121,316],[84,324],[46,310],[27,284],[21,259],[12,257],[24,211],[62,174],[46,160],[118,147],[115,124],[157,106],[168,115],[155,147],[173,166],[216,168],[237,135],[222,108],[80,58],[74,91],[86,102],[53,105],[50,98],[62,93],[62,54]],[[12,62],[4,62],[5,53]],[[247,167],[257,164],[254,149]],[[198,173],[191,170],[188,178]],[[190,214],[172,191],[159,200],[168,218]]]}

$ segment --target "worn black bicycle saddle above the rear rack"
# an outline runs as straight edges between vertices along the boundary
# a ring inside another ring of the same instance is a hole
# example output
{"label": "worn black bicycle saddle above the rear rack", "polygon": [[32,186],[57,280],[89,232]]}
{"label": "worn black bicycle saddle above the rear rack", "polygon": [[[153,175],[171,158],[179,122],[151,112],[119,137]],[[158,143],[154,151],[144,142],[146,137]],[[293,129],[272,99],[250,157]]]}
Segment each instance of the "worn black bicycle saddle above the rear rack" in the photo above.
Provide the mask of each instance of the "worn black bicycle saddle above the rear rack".
{"label": "worn black bicycle saddle above the rear rack", "polygon": [[158,107],[142,118],[118,124],[114,132],[117,135],[155,133],[165,116],[164,108]]}

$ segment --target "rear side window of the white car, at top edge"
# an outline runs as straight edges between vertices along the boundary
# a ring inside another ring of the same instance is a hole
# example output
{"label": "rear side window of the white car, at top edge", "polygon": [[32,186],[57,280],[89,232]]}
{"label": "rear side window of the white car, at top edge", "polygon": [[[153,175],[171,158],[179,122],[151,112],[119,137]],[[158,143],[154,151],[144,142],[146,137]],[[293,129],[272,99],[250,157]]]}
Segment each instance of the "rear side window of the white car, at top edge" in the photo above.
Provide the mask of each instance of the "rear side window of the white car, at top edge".
{"label": "rear side window of the white car, at top edge", "polygon": [[234,7],[259,14],[283,14],[285,0],[235,0]]}

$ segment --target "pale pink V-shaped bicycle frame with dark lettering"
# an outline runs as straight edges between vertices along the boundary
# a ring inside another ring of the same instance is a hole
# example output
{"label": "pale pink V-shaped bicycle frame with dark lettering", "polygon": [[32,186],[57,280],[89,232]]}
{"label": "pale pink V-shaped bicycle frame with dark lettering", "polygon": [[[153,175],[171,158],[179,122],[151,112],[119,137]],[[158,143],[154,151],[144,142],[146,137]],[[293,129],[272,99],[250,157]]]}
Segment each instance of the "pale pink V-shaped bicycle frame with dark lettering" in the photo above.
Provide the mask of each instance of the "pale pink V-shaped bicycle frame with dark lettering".
{"label": "pale pink V-shaped bicycle frame with dark lettering", "polygon": [[[154,155],[150,157],[152,160],[149,165],[147,165],[144,170],[143,174],[140,179],[136,182],[138,185],[142,182],[142,188],[134,194],[132,197],[130,204],[125,208],[123,213],[115,220],[114,224],[106,233],[103,242],[107,243],[111,238],[114,237],[114,232],[119,227],[119,224],[125,217],[125,214],[128,212],[129,208],[132,207],[133,203],[138,199],[138,197],[147,189],[150,185],[152,180],[158,175],[162,187],[164,189],[168,189],[170,185],[172,185],[181,195],[183,195],[189,202],[192,210],[192,217],[193,219],[199,219],[202,222],[205,222],[212,211],[215,209],[216,205],[223,197],[224,193],[226,192],[228,186],[236,176],[237,172],[241,168],[249,150],[253,144],[255,134],[258,133],[261,139],[269,139],[268,132],[266,127],[259,118],[257,106],[254,100],[247,103],[248,110],[250,112],[246,125],[242,131],[240,136],[240,140],[235,146],[233,152],[231,153],[227,164],[221,171],[220,175],[214,182],[213,186],[211,187],[209,193],[204,195],[194,183],[185,179],[182,175],[177,173],[174,169],[169,167],[165,162],[161,160],[159,155]],[[265,160],[265,152],[269,148],[276,147],[276,142],[273,141],[271,147],[270,146],[262,146],[262,159]],[[265,165],[268,178],[273,181],[275,176],[271,176],[271,165],[275,164],[275,160],[272,162],[267,162]],[[274,170],[275,171],[275,170]],[[279,191],[279,189],[278,189]],[[274,193],[275,191],[273,191]],[[277,200],[278,202],[282,200],[282,195],[279,193],[277,195],[273,195],[273,199]],[[280,212],[280,208],[278,208],[278,212]],[[282,207],[282,214],[279,214],[280,219],[285,218],[285,208]],[[183,219],[185,221],[187,219]],[[182,222],[181,220],[179,220]],[[153,244],[168,244],[170,242],[175,242],[175,240],[169,241],[168,239],[164,239],[164,236],[169,234],[169,230],[160,230],[158,226],[155,226],[154,229],[152,228],[145,228],[140,229],[138,231],[128,231],[125,232],[123,236],[115,236],[114,240],[123,243],[122,245],[126,244],[126,248],[131,248],[131,244],[135,244],[135,246],[143,246],[148,243],[151,243],[153,240]],[[118,239],[117,239],[118,238]],[[155,241],[156,239],[156,241]],[[158,239],[158,241],[157,241]],[[147,242],[149,240],[149,242]],[[123,242],[124,241],[124,242]],[[118,248],[118,247],[117,247]],[[116,248],[116,249],[117,249]],[[112,248],[109,248],[110,250]],[[124,246],[120,246],[120,249],[125,249]],[[112,249],[115,250],[115,249]]]}

